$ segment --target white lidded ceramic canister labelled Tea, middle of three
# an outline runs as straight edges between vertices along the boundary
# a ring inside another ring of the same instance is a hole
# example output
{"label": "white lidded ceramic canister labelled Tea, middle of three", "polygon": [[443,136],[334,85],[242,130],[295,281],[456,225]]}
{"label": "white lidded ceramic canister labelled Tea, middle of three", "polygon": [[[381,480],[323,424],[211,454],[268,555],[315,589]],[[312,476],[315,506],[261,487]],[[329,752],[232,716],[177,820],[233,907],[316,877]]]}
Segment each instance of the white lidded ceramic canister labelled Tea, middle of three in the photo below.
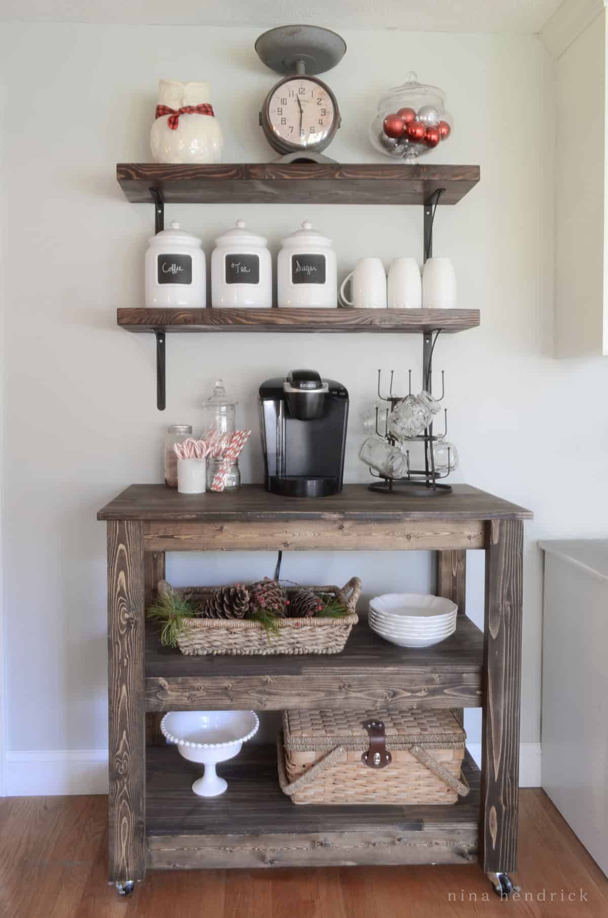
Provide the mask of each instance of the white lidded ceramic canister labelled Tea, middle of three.
{"label": "white lidded ceramic canister labelled Tea, middle of three", "polygon": [[211,306],[271,307],[273,266],[264,236],[237,220],[215,241],[211,255]]}

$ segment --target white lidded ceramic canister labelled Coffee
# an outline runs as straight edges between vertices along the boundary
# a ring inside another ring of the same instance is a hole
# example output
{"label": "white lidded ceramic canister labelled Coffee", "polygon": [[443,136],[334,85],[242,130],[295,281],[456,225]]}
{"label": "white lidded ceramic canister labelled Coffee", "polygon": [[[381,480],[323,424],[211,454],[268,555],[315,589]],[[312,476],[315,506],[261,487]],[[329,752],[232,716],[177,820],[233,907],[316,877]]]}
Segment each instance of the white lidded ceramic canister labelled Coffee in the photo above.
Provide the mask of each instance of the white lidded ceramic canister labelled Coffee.
{"label": "white lidded ceramic canister labelled Coffee", "polygon": [[146,252],[146,306],[207,305],[205,252],[197,236],[175,220],[150,239]]}

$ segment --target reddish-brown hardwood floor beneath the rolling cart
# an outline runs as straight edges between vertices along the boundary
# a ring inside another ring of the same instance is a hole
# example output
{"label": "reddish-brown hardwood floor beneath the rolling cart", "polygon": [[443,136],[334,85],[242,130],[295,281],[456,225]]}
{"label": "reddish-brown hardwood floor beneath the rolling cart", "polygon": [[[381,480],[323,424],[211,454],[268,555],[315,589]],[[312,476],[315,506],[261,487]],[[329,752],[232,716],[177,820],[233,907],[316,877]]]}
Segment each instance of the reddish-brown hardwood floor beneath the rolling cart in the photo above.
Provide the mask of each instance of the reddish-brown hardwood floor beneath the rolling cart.
{"label": "reddish-brown hardwood floor beneath the rolling cart", "polygon": [[608,879],[540,789],[521,792],[519,845],[513,879],[521,900],[510,903],[477,866],[150,872],[122,899],[107,885],[106,797],[7,798],[0,800],[0,916],[502,918],[507,910],[608,918]]}

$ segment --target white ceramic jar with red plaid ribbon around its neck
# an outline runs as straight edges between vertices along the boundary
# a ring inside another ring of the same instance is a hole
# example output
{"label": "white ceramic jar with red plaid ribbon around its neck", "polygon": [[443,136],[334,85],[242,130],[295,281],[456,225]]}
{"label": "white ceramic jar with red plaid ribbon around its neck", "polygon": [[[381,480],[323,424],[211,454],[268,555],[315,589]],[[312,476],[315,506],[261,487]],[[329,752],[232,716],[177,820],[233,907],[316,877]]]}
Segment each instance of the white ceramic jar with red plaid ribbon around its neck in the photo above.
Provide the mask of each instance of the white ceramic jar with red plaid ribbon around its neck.
{"label": "white ceramic jar with red plaid ribbon around its neck", "polygon": [[154,162],[221,162],[224,140],[208,83],[159,81],[150,146]]}

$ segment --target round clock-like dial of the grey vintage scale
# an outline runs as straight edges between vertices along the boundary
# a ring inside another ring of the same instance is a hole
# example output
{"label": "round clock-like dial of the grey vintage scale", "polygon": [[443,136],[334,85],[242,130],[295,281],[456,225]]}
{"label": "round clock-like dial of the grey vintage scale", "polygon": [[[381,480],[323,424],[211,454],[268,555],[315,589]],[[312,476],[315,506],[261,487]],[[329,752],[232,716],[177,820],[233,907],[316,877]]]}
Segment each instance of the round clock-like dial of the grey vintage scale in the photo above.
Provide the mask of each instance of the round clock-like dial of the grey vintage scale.
{"label": "round clock-like dial of the grey vintage scale", "polygon": [[321,151],[340,124],[329,86],[310,76],[289,76],[267,95],[262,112],[266,139],[281,153]]}

